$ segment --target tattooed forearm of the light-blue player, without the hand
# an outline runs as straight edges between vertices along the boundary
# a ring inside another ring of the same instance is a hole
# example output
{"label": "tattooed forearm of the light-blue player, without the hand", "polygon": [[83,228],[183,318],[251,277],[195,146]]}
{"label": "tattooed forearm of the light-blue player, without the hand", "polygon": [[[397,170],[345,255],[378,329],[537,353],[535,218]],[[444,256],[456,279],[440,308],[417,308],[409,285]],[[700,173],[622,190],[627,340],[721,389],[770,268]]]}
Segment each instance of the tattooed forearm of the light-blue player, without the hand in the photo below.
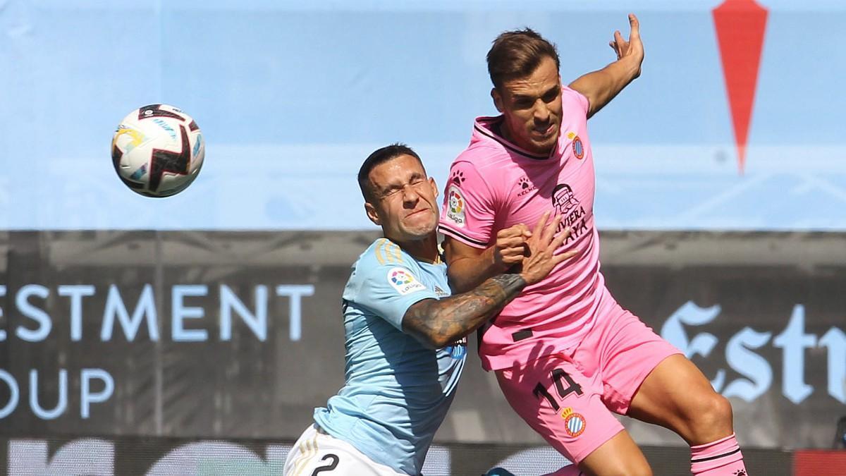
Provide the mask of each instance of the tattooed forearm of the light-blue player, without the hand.
{"label": "tattooed forearm of the light-blue player, without the hand", "polygon": [[416,302],[405,312],[403,329],[424,344],[441,348],[484,324],[525,285],[519,274],[498,274],[471,291]]}

